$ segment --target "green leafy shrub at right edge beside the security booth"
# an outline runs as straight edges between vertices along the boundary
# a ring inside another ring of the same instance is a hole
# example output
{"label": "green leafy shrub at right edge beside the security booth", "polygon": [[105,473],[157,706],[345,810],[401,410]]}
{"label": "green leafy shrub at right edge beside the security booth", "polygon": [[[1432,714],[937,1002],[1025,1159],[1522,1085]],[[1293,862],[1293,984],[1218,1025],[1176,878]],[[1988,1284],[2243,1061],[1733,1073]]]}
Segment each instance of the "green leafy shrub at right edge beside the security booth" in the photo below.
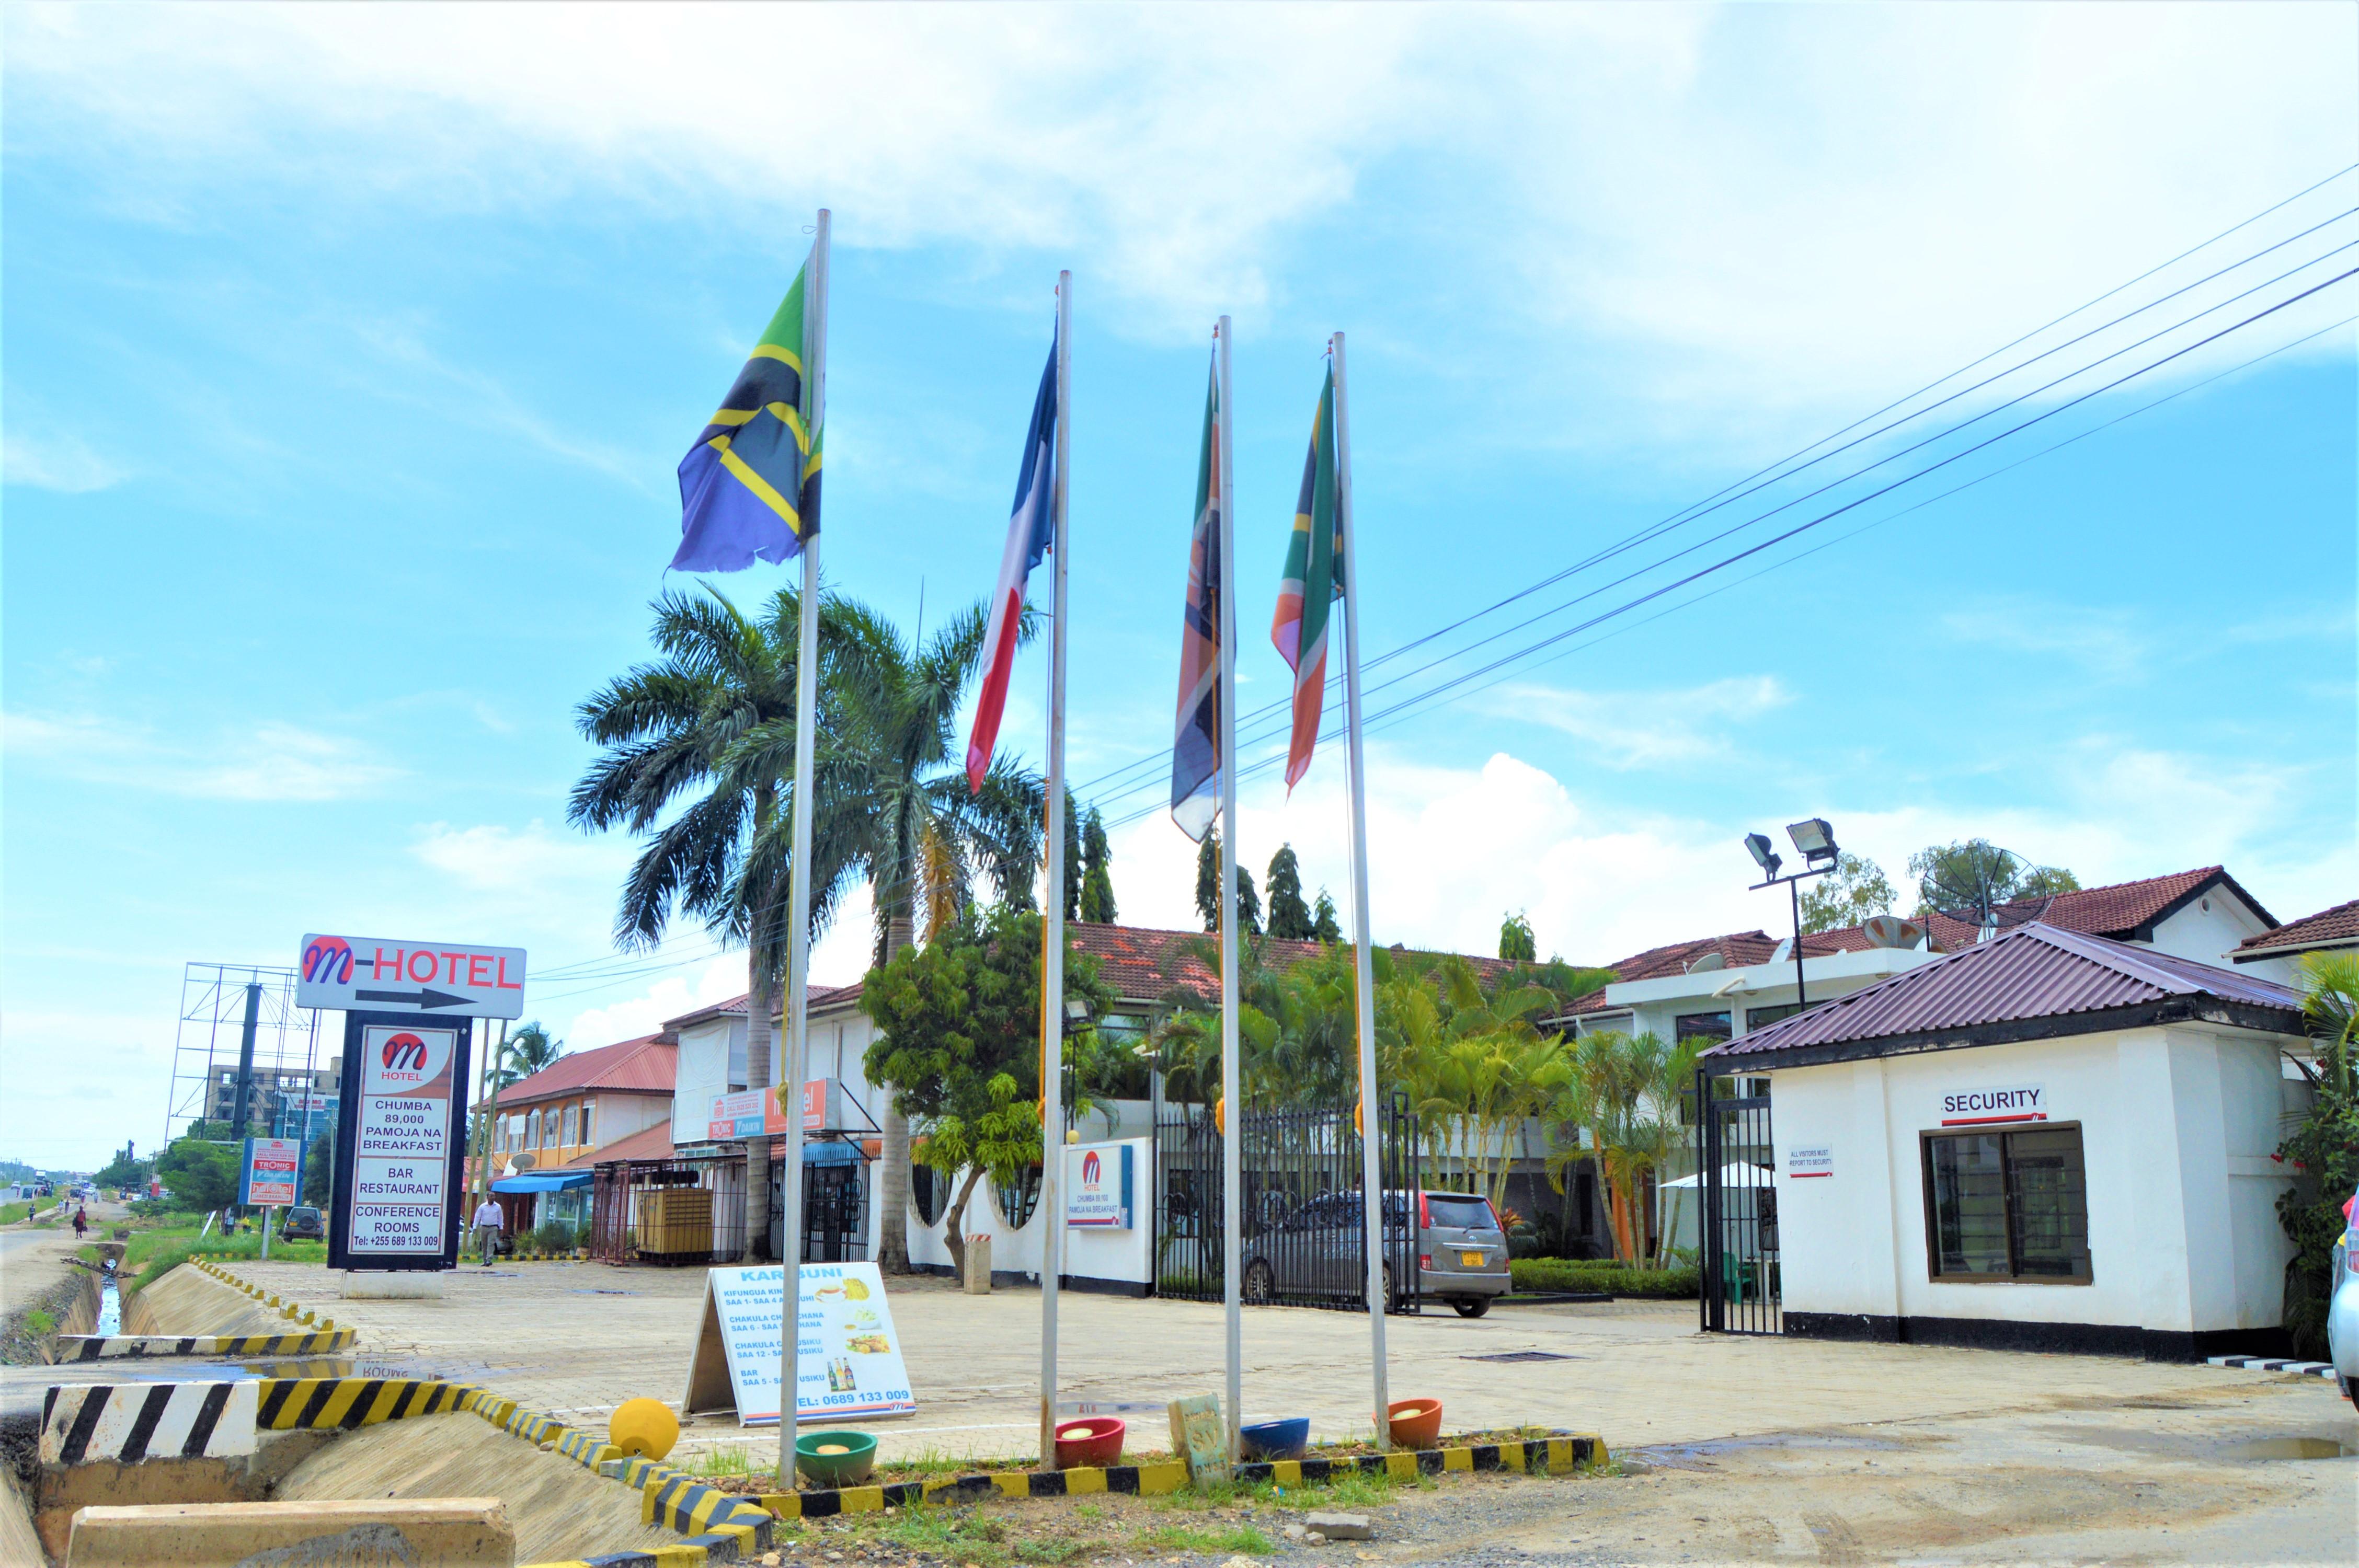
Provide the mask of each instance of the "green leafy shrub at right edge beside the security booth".
{"label": "green leafy shrub at right edge beside the security booth", "polygon": [[2359,1191],[2359,955],[2302,955],[2302,1016],[2319,1042],[2317,1070],[2298,1061],[2309,1078],[2309,1113],[2276,1148],[2295,1174],[2276,1198],[2276,1219],[2293,1240],[2284,1325],[2295,1356],[2324,1361],[2333,1245],[2345,1228],[2342,1205]]}

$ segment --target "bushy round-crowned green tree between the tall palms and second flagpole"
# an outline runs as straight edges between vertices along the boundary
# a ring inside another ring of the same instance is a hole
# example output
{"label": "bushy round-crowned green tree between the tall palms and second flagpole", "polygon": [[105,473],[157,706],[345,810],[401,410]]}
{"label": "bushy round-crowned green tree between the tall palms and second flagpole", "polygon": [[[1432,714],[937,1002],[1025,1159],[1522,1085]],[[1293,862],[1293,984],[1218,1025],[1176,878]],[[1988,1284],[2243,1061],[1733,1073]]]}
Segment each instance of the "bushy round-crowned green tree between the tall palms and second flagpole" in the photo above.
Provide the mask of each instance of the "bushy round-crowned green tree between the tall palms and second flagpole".
{"label": "bushy round-crowned green tree between the tall palms and second flagpole", "polygon": [[[868,1080],[894,1085],[894,1108],[922,1127],[918,1158],[944,1181],[965,1177],[946,1231],[960,1271],[977,1179],[1005,1186],[1040,1162],[1040,924],[1007,903],[988,915],[970,908],[861,983],[861,1012],[878,1026]],[[1116,1000],[1080,953],[1066,957],[1064,990],[1092,1016]]]}

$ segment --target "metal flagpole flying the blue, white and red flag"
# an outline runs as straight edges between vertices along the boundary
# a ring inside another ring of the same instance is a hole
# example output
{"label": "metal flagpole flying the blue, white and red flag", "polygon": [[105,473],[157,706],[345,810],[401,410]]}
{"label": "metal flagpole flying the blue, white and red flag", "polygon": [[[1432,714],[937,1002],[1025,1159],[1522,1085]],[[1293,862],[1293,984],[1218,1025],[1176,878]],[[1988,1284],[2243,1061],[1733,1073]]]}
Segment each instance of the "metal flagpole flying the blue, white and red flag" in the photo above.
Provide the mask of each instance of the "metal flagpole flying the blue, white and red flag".
{"label": "metal flagpole flying the blue, white and red flag", "polygon": [[1064,556],[1073,443],[1073,274],[1057,274],[1054,597],[1047,632],[1047,922],[1040,941],[1040,1464],[1057,1462],[1057,1283],[1064,1271]]}

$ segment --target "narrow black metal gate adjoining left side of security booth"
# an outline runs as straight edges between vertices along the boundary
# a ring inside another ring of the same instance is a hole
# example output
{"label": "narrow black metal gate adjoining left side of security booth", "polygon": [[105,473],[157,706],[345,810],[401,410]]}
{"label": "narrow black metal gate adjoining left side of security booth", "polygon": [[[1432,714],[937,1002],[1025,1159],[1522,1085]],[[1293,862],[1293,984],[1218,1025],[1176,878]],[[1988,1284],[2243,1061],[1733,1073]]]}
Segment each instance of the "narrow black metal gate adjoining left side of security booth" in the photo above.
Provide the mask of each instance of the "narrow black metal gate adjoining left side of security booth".
{"label": "narrow black metal gate adjoining left side of security booth", "polygon": [[1781,1335],[1776,1266],[1776,1151],[1767,1080],[1755,1094],[1717,1094],[1696,1070],[1696,1170],[1703,1191],[1698,1306],[1706,1330]]}

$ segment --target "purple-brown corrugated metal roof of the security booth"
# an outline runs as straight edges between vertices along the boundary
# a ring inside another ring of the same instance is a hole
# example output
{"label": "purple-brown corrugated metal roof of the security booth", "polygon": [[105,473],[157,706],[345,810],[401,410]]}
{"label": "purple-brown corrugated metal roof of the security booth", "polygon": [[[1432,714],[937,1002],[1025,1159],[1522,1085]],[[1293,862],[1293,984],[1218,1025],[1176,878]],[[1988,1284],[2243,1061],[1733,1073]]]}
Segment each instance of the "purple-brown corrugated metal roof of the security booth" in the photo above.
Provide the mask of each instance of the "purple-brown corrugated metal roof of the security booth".
{"label": "purple-brown corrugated metal roof of the security booth", "polygon": [[[1882,1054],[1875,1047],[1932,1047],[1944,1037],[1953,1037],[1953,1045],[1984,1045],[2005,1035],[2008,1026],[2069,1021],[2078,1014],[2090,1014],[2090,1028],[2118,1028],[2123,1009],[2168,1009],[2173,1002],[2182,1004],[2173,1012],[2184,1016],[2225,1016],[2248,1028],[2300,1033],[2302,1026],[2302,997],[2286,986],[2033,922],[1819,1002],[1713,1047],[1706,1056],[1774,1066],[1765,1059],[1805,1052],[1875,1056]],[[1977,1030],[1996,1033],[1993,1040],[1977,1040]],[[2017,1030],[2019,1037],[2057,1033],[2076,1030]]]}

